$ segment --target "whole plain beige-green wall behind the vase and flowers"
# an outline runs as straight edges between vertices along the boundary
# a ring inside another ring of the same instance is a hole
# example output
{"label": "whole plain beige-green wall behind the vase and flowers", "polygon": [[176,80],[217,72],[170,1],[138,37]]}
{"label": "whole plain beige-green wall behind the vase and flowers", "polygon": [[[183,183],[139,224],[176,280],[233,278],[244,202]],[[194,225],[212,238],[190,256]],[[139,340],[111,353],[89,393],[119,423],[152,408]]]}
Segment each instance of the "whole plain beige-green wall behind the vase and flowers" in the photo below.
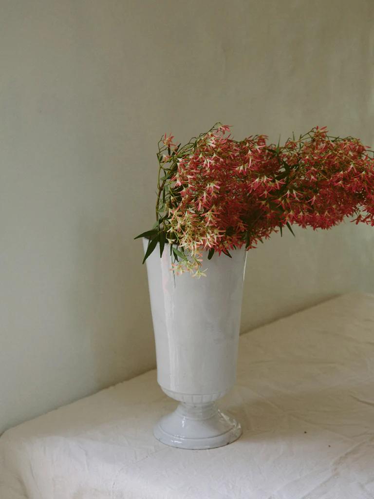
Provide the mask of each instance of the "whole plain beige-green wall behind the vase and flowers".
{"label": "whole plain beige-green wall behind the vase and flowers", "polygon": [[[373,21],[371,0],[0,0],[0,432],[155,366],[133,237],[164,132],[374,144]],[[295,232],[248,254],[242,330],[374,292],[374,229]]]}

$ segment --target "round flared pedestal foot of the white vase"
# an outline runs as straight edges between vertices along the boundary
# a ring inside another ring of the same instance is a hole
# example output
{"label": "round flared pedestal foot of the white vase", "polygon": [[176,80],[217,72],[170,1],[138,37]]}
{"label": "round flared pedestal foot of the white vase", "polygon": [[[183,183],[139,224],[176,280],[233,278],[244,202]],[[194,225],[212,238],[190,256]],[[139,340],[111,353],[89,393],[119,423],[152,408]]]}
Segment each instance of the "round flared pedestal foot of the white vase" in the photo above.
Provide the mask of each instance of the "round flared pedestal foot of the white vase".
{"label": "round flared pedestal foot of the white vase", "polygon": [[180,449],[214,449],[235,442],[242,434],[240,424],[207,404],[181,403],[158,422],[154,436],[165,445]]}

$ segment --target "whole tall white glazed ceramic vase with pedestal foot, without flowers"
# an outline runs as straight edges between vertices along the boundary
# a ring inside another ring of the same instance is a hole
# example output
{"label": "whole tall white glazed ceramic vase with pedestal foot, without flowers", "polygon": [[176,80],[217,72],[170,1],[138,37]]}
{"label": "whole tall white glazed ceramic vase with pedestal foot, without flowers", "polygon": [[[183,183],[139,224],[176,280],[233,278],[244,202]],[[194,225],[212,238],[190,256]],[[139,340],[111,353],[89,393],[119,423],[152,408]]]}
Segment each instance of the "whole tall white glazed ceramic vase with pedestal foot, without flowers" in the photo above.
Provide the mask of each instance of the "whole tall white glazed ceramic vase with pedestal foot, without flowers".
{"label": "whole tall white glazed ceramic vase with pedestal foot, without flowers", "polygon": [[[143,240],[147,248],[148,240]],[[211,449],[234,442],[240,424],[218,410],[215,401],[235,382],[243,291],[244,249],[232,258],[214,255],[202,268],[207,276],[174,275],[167,246],[147,259],[157,380],[180,402],[154,429],[166,445]]]}

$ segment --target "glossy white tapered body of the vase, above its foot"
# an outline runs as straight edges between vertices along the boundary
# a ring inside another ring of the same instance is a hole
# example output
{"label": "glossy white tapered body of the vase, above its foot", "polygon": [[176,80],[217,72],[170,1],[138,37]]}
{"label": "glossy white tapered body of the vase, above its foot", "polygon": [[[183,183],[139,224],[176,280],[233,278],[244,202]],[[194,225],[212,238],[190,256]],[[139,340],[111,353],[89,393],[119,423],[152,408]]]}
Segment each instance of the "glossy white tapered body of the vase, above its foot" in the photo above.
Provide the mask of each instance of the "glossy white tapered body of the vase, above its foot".
{"label": "glossy white tapered body of the vase, above its foot", "polygon": [[[145,241],[145,245],[147,242]],[[245,250],[206,256],[207,276],[174,276],[168,248],[147,259],[157,377],[187,395],[226,392],[235,382]]]}

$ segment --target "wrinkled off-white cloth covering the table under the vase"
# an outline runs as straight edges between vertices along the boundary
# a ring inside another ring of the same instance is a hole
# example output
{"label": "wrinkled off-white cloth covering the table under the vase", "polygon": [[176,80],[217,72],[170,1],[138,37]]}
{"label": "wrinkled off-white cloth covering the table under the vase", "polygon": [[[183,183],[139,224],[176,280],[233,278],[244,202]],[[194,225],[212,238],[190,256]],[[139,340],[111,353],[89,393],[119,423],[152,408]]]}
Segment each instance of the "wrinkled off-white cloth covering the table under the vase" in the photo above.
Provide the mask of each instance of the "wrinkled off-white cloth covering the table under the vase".
{"label": "wrinkled off-white cloth covering the table under the vase", "polygon": [[0,438],[1,499],[374,498],[374,296],[348,294],[241,337],[220,405],[243,436],[173,449],[151,371]]}

